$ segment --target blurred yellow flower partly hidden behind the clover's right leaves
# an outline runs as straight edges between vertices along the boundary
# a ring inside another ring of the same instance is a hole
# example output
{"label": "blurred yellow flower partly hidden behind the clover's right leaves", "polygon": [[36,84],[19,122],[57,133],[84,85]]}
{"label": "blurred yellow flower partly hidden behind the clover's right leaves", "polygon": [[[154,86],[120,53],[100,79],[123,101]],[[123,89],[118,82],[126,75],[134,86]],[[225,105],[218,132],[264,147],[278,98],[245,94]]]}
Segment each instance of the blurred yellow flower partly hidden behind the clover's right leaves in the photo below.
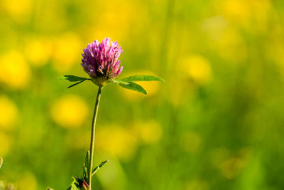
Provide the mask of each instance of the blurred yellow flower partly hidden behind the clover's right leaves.
{"label": "blurred yellow flower partly hidden behind the clover's right leaves", "polygon": [[[138,71],[135,72],[133,71],[132,73],[129,73],[126,76],[131,76],[131,75],[156,75],[155,73],[152,73],[151,71]],[[133,90],[126,90],[125,88],[119,88],[121,91],[121,94],[126,98],[126,100],[129,101],[135,101],[135,100],[141,100],[145,97],[153,97],[155,95],[158,95],[158,92],[160,90],[160,82],[158,81],[139,81],[139,82],[135,82],[138,85],[141,85],[146,91],[147,91],[147,95],[142,95],[141,93],[138,93],[136,91]]]}

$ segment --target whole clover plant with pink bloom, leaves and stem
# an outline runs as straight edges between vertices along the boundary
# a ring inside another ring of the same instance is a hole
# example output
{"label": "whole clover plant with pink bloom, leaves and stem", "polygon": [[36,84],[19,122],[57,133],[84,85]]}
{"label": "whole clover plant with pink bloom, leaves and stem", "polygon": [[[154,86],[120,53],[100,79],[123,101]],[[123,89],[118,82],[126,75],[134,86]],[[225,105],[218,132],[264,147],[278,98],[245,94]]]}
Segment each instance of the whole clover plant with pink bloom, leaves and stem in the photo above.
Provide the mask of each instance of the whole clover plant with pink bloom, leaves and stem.
{"label": "whole clover plant with pink bloom, leaves and stem", "polygon": [[146,90],[134,83],[136,81],[151,81],[159,80],[163,81],[162,78],[158,78],[153,75],[133,75],[123,79],[117,79],[123,67],[120,66],[119,56],[122,53],[121,47],[115,41],[112,42],[110,38],[104,38],[102,43],[94,41],[89,43],[87,48],[82,53],[82,67],[84,71],[89,75],[89,78],[82,78],[74,75],[65,75],[65,79],[70,82],[76,82],[70,85],[68,88],[72,88],[85,80],[91,80],[95,85],[99,86],[97,99],[94,106],[94,115],[92,118],[92,134],[90,148],[87,152],[86,159],[83,166],[82,177],[73,177],[70,190],[76,189],[92,189],[92,176],[105,164],[107,160],[99,164],[99,166],[93,168],[94,158],[94,134],[97,120],[97,112],[99,110],[99,100],[101,98],[102,88],[108,83],[119,84],[122,88],[129,90],[135,90],[139,93],[147,94]]}

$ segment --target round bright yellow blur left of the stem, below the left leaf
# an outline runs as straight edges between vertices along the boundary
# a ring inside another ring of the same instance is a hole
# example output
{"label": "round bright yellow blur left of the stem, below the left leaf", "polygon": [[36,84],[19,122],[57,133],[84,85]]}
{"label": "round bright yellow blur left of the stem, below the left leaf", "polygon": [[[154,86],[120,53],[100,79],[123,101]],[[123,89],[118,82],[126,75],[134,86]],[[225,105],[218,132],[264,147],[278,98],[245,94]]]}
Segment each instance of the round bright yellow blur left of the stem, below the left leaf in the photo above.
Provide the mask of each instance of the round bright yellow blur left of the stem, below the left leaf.
{"label": "round bright yellow blur left of the stem, below the left leaf", "polygon": [[88,106],[82,98],[65,95],[53,102],[51,107],[53,120],[62,127],[80,127],[84,123]]}

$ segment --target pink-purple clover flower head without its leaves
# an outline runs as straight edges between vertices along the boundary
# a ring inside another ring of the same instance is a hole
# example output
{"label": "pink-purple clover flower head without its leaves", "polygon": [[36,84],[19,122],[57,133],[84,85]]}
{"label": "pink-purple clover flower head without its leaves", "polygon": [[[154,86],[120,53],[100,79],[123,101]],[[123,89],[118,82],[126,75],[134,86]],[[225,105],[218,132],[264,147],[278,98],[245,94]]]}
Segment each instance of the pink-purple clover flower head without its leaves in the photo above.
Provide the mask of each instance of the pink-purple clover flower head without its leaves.
{"label": "pink-purple clover flower head without its leaves", "polygon": [[121,46],[111,38],[104,38],[102,43],[95,40],[89,43],[82,53],[82,67],[96,85],[105,85],[111,78],[116,78],[122,71],[119,68]]}

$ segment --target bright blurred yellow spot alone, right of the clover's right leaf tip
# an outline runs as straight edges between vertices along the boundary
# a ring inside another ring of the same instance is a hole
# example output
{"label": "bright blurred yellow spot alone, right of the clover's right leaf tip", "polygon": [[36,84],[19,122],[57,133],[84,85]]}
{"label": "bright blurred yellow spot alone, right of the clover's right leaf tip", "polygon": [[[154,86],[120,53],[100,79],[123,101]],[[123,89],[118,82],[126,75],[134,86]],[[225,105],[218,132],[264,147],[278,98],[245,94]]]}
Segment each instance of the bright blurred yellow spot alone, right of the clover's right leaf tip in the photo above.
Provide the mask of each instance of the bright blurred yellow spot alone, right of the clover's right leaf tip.
{"label": "bright blurred yellow spot alone, right of the clover's right leaf tip", "polygon": [[183,72],[196,83],[203,85],[212,79],[212,70],[209,61],[203,56],[193,55],[185,58]]}

